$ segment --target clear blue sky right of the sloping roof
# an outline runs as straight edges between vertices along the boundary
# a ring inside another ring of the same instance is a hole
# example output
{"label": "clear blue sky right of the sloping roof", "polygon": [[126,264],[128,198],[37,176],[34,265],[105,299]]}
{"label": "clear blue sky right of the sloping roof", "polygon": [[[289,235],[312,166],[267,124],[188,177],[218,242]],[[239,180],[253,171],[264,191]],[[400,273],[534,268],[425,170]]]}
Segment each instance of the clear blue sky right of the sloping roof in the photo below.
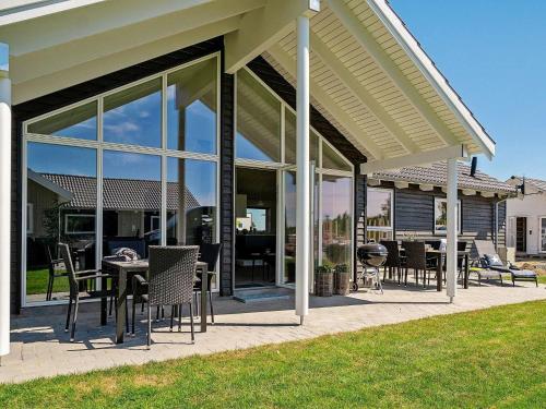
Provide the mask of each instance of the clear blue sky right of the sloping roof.
{"label": "clear blue sky right of the sloping roof", "polygon": [[478,168],[546,180],[546,1],[390,0],[497,143]]}

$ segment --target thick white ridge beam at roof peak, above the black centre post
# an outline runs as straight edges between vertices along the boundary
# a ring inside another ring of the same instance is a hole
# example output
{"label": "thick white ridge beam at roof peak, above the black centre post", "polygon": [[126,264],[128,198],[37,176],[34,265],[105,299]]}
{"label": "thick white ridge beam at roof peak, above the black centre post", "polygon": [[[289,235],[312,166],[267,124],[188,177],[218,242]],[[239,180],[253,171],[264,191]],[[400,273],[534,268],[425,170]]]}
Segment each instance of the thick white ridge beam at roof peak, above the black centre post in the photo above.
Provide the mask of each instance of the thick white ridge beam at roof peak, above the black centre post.
{"label": "thick white ridge beam at roof peak, above the black centre post", "polygon": [[299,15],[314,14],[310,2],[269,0],[265,7],[245,14],[240,28],[224,38],[225,71],[234,74],[293,31]]}

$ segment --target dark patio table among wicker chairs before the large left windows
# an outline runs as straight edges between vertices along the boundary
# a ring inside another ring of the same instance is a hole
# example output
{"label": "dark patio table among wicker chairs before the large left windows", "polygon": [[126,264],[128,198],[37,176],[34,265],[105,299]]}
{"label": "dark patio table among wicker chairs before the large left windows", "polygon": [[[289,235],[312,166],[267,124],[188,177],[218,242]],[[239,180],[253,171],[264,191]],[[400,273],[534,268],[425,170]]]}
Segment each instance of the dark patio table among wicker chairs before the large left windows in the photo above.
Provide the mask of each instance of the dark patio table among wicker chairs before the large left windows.
{"label": "dark patio table among wicker chairs before the large left windows", "polygon": [[[124,327],[126,327],[126,304],[127,304],[127,277],[128,273],[144,273],[149,270],[147,260],[136,260],[131,262],[115,262],[109,260],[104,260],[103,263],[107,264],[110,268],[109,272],[114,273],[118,277],[118,301],[116,303],[116,309],[118,313],[118,320],[116,322],[116,344],[123,342]],[[209,265],[204,262],[198,262],[195,274],[198,272],[207,273]],[[206,333],[206,291],[209,286],[209,280],[202,279],[202,290],[201,290],[201,332]],[[103,313],[106,311],[106,299],[103,299],[104,308]],[[106,318],[106,317],[105,317]],[[106,320],[105,320],[106,321]]]}

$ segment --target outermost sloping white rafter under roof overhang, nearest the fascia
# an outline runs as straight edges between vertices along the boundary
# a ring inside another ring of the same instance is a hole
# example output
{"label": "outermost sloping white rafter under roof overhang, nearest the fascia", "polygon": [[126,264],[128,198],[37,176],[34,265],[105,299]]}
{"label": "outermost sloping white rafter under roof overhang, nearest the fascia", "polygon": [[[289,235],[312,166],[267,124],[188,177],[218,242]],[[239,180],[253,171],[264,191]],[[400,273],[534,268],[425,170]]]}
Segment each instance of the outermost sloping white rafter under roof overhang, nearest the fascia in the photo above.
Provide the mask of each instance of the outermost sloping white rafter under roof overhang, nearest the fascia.
{"label": "outermost sloping white rafter under roof overhang, nearest the fascia", "polygon": [[405,95],[412,106],[420,113],[420,116],[432,127],[436,133],[448,145],[456,144],[458,141],[452,132],[440,120],[435,110],[423,98],[419,92],[415,88],[412,82],[396,67],[394,61],[377,43],[376,38],[366,29],[358,17],[347,7],[343,0],[328,0],[328,4],[335,15],[343,23],[345,28],[358,40],[366,49],[376,63],[384,71],[391,81]]}

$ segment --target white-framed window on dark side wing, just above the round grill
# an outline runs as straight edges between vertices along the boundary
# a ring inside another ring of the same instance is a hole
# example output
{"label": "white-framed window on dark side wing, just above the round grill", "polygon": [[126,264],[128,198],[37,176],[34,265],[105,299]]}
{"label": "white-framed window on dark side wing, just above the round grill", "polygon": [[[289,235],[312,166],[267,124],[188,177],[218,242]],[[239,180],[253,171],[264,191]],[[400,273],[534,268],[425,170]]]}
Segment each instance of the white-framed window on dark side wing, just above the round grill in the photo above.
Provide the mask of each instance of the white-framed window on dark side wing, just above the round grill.
{"label": "white-framed window on dark side wing, just above the round grill", "polygon": [[393,191],[368,188],[366,202],[367,239],[379,242],[393,238]]}

